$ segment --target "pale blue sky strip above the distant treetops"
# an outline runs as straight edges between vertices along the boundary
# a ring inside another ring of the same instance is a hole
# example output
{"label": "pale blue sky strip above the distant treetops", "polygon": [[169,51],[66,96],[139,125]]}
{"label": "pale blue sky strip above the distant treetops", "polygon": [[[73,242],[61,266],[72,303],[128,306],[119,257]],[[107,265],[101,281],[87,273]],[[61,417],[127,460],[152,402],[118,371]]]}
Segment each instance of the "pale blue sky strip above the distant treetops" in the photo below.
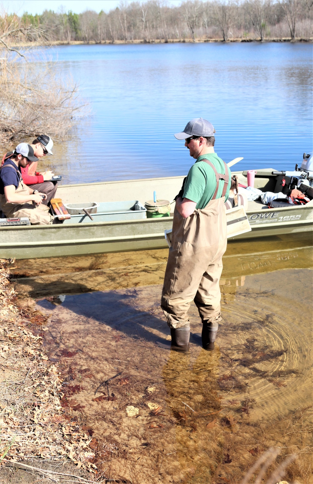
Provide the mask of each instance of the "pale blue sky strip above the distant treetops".
{"label": "pale blue sky strip above the distant treetops", "polygon": [[[2,8],[9,14],[16,13],[21,15],[24,12],[29,14],[41,14],[44,10],[54,10],[55,12],[73,12],[80,14],[85,10],[109,12],[112,8],[119,5],[120,0],[3,0]],[[130,3],[130,2],[128,2]],[[169,5],[180,5],[182,0],[168,0]],[[63,10],[62,10],[63,9]]]}

